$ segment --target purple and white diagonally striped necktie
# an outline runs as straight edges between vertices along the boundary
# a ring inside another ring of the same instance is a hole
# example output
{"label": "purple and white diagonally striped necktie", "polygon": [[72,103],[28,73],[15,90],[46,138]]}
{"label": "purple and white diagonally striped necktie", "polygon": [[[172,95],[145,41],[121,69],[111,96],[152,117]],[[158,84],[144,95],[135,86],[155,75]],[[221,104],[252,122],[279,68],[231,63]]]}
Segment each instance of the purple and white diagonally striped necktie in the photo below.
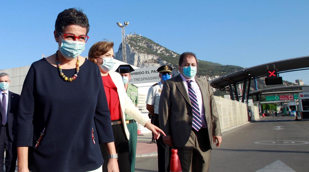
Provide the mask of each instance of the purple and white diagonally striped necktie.
{"label": "purple and white diagonally striped necktie", "polygon": [[188,94],[192,106],[192,127],[198,131],[202,127],[200,108],[198,107],[195,91],[191,85],[192,80],[187,80],[186,82],[188,83]]}

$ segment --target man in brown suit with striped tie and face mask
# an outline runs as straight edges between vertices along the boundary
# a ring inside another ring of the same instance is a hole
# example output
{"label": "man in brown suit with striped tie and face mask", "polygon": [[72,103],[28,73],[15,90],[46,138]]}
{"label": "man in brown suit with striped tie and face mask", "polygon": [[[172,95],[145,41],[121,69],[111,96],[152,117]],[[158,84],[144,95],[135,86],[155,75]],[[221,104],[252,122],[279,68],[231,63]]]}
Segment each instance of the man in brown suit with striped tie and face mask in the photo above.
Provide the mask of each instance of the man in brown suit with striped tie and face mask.
{"label": "man in brown suit with striped tie and face mask", "polygon": [[183,172],[208,171],[212,142],[222,141],[218,111],[212,88],[195,77],[197,58],[194,53],[180,55],[180,74],[163,83],[159,102],[163,142],[178,150]]}

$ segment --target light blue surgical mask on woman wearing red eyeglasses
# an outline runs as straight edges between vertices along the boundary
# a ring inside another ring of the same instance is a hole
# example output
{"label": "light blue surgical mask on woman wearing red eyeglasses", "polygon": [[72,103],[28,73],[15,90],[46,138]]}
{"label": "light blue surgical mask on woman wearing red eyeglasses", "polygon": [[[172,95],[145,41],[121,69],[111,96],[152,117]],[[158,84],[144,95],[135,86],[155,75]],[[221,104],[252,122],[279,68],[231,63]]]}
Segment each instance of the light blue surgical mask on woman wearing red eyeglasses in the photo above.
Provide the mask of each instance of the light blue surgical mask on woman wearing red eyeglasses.
{"label": "light blue surgical mask on woman wearing red eyeglasses", "polygon": [[60,47],[58,47],[58,49],[60,50],[63,57],[68,60],[72,60],[76,58],[79,54],[82,54],[83,51],[85,51],[85,44],[85,42],[62,39],[61,45]]}

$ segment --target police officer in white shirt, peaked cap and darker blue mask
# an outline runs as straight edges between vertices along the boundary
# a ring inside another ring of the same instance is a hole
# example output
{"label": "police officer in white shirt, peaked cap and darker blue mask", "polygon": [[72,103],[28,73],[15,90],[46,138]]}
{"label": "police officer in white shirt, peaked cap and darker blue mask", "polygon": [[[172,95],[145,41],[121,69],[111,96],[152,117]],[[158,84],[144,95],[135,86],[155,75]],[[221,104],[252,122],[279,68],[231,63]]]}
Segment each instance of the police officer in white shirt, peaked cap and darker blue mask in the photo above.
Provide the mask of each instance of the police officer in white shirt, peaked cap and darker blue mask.
{"label": "police officer in white shirt, peaked cap and darker blue mask", "polygon": [[[163,87],[163,82],[167,79],[171,78],[171,72],[173,68],[168,65],[160,66],[157,69],[159,73],[159,77],[161,79],[160,82],[155,83],[148,90],[148,95],[146,99],[146,109],[150,112],[151,115],[154,116],[154,125],[159,127],[159,100],[160,94]],[[159,172],[168,172],[170,166],[171,159],[171,148],[163,143],[163,137],[161,136],[157,140],[158,147],[158,170]]]}

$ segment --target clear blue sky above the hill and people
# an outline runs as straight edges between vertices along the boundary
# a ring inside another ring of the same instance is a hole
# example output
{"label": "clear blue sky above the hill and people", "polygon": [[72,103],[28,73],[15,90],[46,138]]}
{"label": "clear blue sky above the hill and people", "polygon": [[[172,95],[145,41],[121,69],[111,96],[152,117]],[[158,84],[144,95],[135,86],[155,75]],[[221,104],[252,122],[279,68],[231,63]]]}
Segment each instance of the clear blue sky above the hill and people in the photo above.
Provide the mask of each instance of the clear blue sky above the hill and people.
{"label": "clear blue sky above the hill and people", "polygon": [[[121,43],[116,22],[177,53],[223,65],[251,67],[309,55],[309,1],[2,1],[0,69],[28,66],[57,50],[57,15],[76,7],[89,18],[86,50],[108,39]],[[309,66],[309,65],[308,65]],[[309,70],[282,74],[309,82]],[[307,83],[309,84],[309,83]]]}

